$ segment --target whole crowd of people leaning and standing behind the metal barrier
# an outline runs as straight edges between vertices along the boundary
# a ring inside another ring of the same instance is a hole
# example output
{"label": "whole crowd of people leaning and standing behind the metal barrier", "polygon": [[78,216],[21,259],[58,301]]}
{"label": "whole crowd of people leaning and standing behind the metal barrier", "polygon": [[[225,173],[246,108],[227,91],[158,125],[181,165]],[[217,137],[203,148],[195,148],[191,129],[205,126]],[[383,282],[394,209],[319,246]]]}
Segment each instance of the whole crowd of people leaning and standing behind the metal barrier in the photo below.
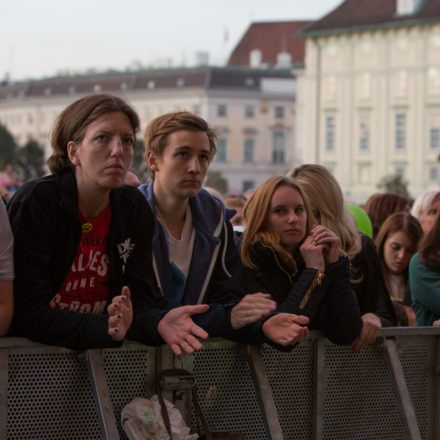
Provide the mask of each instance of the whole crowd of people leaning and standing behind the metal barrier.
{"label": "whole crowd of people leaning and standing behind the metal barrier", "polygon": [[439,324],[440,190],[412,208],[374,195],[369,237],[320,165],[213,195],[216,133],[189,112],[148,125],[139,185],[139,126],[118,97],[74,102],[52,129],[51,174],[16,189],[7,213],[0,202],[0,335],[179,355],[217,336],[291,349],[319,329],[359,351],[382,327]]}

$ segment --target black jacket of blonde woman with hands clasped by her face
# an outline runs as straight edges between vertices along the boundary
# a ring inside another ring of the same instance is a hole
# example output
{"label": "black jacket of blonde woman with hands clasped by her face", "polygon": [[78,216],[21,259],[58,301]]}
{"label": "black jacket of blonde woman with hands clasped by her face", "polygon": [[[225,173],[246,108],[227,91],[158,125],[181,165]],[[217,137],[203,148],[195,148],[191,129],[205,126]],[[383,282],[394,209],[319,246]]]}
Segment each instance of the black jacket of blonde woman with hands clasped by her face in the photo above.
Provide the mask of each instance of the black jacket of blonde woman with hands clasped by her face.
{"label": "black jacket of blonde woman with hands clasped by her face", "polygon": [[307,316],[310,328],[321,330],[336,344],[351,344],[359,336],[362,320],[350,287],[347,258],[329,265],[321,284],[315,269],[300,267],[292,276],[275,251],[262,243],[251,248],[251,259],[257,268],[243,269],[246,293],[269,293],[280,312]]}

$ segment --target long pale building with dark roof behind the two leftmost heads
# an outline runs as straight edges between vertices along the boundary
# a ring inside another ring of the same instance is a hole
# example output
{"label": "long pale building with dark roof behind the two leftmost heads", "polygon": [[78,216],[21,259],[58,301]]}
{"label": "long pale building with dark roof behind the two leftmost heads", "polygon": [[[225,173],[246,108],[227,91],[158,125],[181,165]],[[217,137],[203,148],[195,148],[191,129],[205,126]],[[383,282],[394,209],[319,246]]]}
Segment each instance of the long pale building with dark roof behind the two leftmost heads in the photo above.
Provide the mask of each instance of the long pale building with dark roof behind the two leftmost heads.
{"label": "long pale building with dark roof behind the two leftmost heads", "polygon": [[52,78],[0,86],[0,122],[23,144],[42,143],[71,102],[89,93],[114,93],[139,113],[142,130],[169,111],[189,110],[219,132],[210,167],[242,192],[284,174],[298,158],[294,145],[295,79],[290,70],[236,67],[151,70]]}

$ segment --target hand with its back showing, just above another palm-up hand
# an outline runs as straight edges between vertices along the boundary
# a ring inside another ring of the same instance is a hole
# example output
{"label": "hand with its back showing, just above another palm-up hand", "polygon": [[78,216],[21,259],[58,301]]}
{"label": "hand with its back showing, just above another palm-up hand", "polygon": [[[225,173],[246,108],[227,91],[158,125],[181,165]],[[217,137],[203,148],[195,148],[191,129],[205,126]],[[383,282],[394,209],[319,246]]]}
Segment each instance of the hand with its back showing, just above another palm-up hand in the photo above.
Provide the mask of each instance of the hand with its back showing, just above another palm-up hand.
{"label": "hand with its back showing, just above another palm-up hand", "polygon": [[273,312],[277,303],[268,293],[251,293],[244,296],[231,311],[231,325],[234,330],[258,321],[264,315]]}

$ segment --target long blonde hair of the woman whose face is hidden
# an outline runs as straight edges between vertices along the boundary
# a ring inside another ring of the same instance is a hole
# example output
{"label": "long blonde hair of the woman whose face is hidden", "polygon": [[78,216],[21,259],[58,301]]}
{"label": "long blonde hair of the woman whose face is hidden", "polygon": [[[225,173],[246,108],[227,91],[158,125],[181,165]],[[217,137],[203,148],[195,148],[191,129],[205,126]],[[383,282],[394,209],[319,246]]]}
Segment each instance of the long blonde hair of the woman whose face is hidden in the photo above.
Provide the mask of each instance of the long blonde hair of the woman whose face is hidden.
{"label": "long blonde hair of the woman whose face is hidden", "polygon": [[322,165],[301,165],[288,173],[307,195],[316,221],[338,234],[343,250],[352,259],[361,250],[356,222],[345,208],[337,180]]}

